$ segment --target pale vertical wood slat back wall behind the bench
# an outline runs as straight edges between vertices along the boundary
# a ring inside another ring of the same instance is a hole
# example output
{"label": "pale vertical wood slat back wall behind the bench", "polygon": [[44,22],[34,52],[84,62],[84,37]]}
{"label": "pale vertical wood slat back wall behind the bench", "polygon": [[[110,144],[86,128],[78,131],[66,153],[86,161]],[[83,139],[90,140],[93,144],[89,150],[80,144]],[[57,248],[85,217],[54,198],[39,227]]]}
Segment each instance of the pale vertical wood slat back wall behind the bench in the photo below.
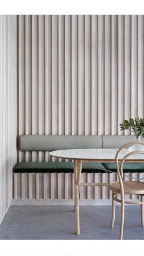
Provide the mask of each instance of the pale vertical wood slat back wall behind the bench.
{"label": "pale vertical wood slat back wall behind the bench", "polygon": [[[18,135],[129,134],[118,124],[144,114],[143,22],[143,15],[20,15]],[[51,161],[48,152],[18,159]]]}

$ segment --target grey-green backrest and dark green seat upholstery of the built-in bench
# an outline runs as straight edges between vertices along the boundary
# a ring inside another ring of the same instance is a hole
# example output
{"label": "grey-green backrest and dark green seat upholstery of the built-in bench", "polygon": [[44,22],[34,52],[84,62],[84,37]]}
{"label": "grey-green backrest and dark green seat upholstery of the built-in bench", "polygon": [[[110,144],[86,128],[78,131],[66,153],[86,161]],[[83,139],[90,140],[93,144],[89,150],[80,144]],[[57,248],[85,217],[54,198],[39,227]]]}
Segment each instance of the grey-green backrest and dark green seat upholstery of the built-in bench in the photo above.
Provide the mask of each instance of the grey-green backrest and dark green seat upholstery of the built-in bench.
{"label": "grey-green backrest and dark green seat upholstery of the built-in bench", "polygon": [[[72,135],[24,135],[20,136],[19,150],[48,151],[70,148],[119,148],[134,140],[134,136],[72,136]],[[107,170],[116,172],[115,163],[83,163],[82,172],[103,173]],[[124,172],[144,172],[143,163],[125,163]],[[71,173],[71,162],[28,162],[18,163],[13,168],[15,173],[49,172]]]}

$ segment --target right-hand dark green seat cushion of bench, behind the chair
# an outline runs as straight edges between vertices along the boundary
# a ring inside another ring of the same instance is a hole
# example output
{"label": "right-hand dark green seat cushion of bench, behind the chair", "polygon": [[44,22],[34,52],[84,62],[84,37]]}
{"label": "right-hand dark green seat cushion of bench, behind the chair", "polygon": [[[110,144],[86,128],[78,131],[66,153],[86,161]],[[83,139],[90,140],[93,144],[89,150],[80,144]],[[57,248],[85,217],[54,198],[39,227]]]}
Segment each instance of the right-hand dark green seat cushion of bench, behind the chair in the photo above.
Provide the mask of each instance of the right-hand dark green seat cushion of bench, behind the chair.
{"label": "right-hand dark green seat cushion of bench, behind the chair", "polygon": [[[117,172],[115,163],[103,163],[107,170]],[[144,172],[144,163],[124,163],[123,172]]]}

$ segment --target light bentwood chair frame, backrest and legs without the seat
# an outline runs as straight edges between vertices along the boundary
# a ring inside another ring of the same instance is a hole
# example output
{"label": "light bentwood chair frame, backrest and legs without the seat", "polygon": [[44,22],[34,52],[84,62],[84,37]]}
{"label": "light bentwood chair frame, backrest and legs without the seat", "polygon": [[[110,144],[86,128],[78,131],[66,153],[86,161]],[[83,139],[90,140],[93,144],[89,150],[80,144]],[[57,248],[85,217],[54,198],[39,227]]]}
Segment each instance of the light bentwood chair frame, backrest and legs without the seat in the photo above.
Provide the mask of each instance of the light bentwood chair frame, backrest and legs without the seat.
{"label": "light bentwood chair frame, backrest and legs without the seat", "polygon": [[[121,147],[116,156],[115,156],[115,164],[116,164],[116,167],[117,167],[117,174],[118,174],[118,181],[119,181],[119,184],[120,184],[120,193],[117,192],[117,191],[114,191],[114,189],[110,188],[112,190],[112,220],[111,220],[111,224],[110,224],[110,227],[113,227],[114,225],[114,222],[115,222],[115,201],[117,202],[120,202],[121,203],[121,223],[120,223],[120,240],[123,239],[123,226],[124,226],[124,204],[133,204],[133,205],[140,205],[141,207],[141,221],[142,221],[142,227],[144,227],[144,216],[143,216],[143,204],[144,204],[144,194],[137,194],[140,196],[140,201],[138,202],[130,202],[130,201],[126,201],[124,200],[124,186],[123,186],[123,164],[124,162],[126,161],[126,159],[131,156],[131,155],[138,155],[138,154],[143,154],[144,155],[144,151],[134,151],[134,152],[130,152],[130,153],[127,153],[123,159],[118,159],[121,151],[126,148],[126,147],[130,147],[132,145],[135,145],[135,144],[143,144],[144,145],[144,142],[129,142],[127,144],[124,144],[123,147]],[[120,163],[121,162],[121,163]],[[120,166],[119,166],[119,163],[120,163]],[[126,182],[129,182],[129,181],[124,181],[124,183]],[[135,181],[132,181],[132,182],[135,182]],[[140,182],[140,181],[139,181]],[[110,183],[110,186],[112,185],[113,183]],[[143,183],[143,190],[144,190],[144,183]],[[120,199],[117,198],[118,194],[120,194]],[[129,194],[133,194],[132,191],[129,193]]]}

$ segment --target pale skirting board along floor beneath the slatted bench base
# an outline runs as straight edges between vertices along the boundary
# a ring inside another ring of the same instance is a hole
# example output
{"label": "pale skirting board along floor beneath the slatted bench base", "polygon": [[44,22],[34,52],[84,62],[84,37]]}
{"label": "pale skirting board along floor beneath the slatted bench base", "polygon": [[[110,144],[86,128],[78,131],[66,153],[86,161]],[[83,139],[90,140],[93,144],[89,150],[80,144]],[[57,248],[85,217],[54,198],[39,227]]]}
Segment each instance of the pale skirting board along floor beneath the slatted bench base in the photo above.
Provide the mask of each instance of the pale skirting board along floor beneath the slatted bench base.
{"label": "pale skirting board along floor beneath the slatted bench base", "polygon": [[[131,200],[132,201],[132,200]],[[45,200],[45,199],[21,199],[15,200],[13,199],[10,205],[74,205],[74,200]],[[112,200],[110,199],[98,199],[98,200],[79,200],[79,205],[112,205]],[[120,205],[120,203],[116,202],[116,205]]]}

